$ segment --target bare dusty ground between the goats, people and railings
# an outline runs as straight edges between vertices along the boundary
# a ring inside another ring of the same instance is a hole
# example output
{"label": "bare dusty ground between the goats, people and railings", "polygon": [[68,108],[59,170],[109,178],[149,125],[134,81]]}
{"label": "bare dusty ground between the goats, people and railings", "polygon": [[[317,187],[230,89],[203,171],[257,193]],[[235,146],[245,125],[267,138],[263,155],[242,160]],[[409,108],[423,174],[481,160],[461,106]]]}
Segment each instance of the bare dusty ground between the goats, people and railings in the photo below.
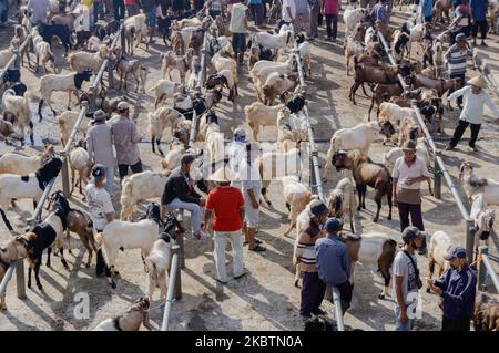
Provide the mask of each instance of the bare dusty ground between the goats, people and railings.
{"label": "bare dusty ground between the goats, people and railings", "polygon": [[[344,4],[345,7],[345,4]],[[393,22],[400,22],[408,15],[397,12]],[[11,38],[12,29],[0,29],[0,49],[7,48]],[[319,157],[324,165],[325,153],[328,148],[328,141],[332,134],[343,127],[352,127],[366,121],[367,108],[370,100],[361,95],[357,97],[357,105],[348,101],[348,90],[353,77],[345,74],[345,60],[343,54],[343,23],[339,23],[339,41],[330,43],[324,41],[325,30],[320,29],[320,39],[313,42],[313,76],[307,81],[308,106],[314,126],[314,135],[318,143]],[[492,69],[499,72],[495,61],[499,56],[499,45],[496,41],[499,38],[492,35],[489,46],[479,49],[487,55]],[[147,87],[161,75],[160,53],[167,49],[157,41],[152,44],[149,51],[143,45],[136,51],[136,58],[147,66],[150,73]],[[57,64],[68,71],[68,65],[62,52],[57,49]],[[413,50],[415,55],[415,50]],[[415,58],[415,56],[414,56]],[[470,68],[469,74],[471,75]],[[32,70],[23,68],[22,81],[29,86],[32,93],[32,110],[39,101],[39,77],[42,74],[34,74]],[[88,86],[88,85],[86,85]],[[131,85],[134,89],[134,83]],[[153,97],[144,94],[135,94],[129,86],[126,92],[115,92],[110,90],[111,95],[125,95],[133,102],[135,115],[138,115],[138,126],[140,133],[146,136],[146,113],[154,108]],[[247,71],[240,75],[240,97],[235,104],[224,100],[215,110],[222,117],[222,129],[226,133],[226,138],[231,138],[231,128],[238,125],[246,127],[244,123],[243,107],[255,101],[254,87],[247,80]],[[495,96],[497,98],[497,96]],[[497,100],[496,100],[497,101]],[[57,102],[55,110],[65,110],[67,95],[54,94],[53,102]],[[77,110],[74,107],[73,110]],[[33,114],[34,115],[34,114]],[[490,121],[490,112],[487,111],[487,121]],[[445,134],[436,136],[437,147],[444,148],[449,141],[449,135],[458,120],[458,112],[445,114]],[[42,123],[33,116],[35,124],[35,146],[26,146],[20,153],[33,155],[41,149],[41,141],[58,141],[58,127],[52,114],[45,110],[45,117]],[[480,176],[497,179],[499,173],[499,142],[498,127],[489,123],[482,125],[480,139],[478,142],[479,152],[473,153],[467,147],[469,132],[465,134],[459,147],[451,153],[442,153],[446,166],[457,183],[458,167],[462,160],[470,160],[477,168]],[[276,139],[276,129],[265,128],[261,132],[261,141],[273,142]],[[167,139],[169,137],[166,137]],[[145,137],[140,147],[142,162],[146,169],[159,170],[160,156],[151,153],[149,137]],[[60,146],[58,146],[60,148]],[[164,147],[166,148],[166,147]],[[376,162],[383,160],[383,154],[391,146],[383,146],[380,141],[376,142],[370,152],[370,157]],[[0,145],[0,153],[11,152],[12,146]],[[325,191],[334,187],[338,180],[336,172],[325,176]],[[307,174],[304,173],[304,180],[307,181]],[[116,187],[118,181],[115,179]],[[59,189],[60,179],[55,189]],[[436,199],[424,188],[424,219],[427,231],[434,233],[437,230],[445,230],[452,238],[456,245],[465,246],[465,222],[455,204],[449,188],[442,185],[442,197]],[[371,190],[366,200],[367,211],[356,212],[355,228],[357,233],[379,231],[390,235],[394,239],[399,238],[398,212],[394,208],[394,219],[387,220],[387,205],[380,212],[377,224],[371,221],[375,204],[371,198]],[[244,251],[244,262],[247,276],[235,281],[230,280],[227,285],[221,285],[215,280],[215,268],[213,261],[213,242],[200,243],[189,236],[185,241],[186,267],[182,271],[182,299],[173,303],[170,318],[172,330],[302,330],[302,322],[298,316],[299,289],[293,285],[294,266],[292,264],[293,242],[295,231],[289,237],[284,237],[287,228],[287,212],[282,201],[282,187],[279,181],[273,181],[269,188],[269,199],[272,207],[262,206],[261,228],[258,237],[265,241],[267,251],[254,253]],[[118,198],[119,200],[119,198]],[[75,208],[86,210],[86,205],[82,201],[82,196],[75,191],[71,198],[71,205]],[[142,204],[136,214],[143,214]],[[115,204],[116,210],[119,203]],[[469,209],[469,204],[467,204]],[[26,226],[26,218],[30,216],[32,205],[29,201],[19,201],[16,209],[8,211],[8,217],[19,231]],[[189,222],[187,222],[189,225]],[[9,236],[3,224],[0,226],[0,240]],[[7,289],[8,310],[0,313],[0,330],[90,330],[100,321],[112,318],[123,312],[131,302],[144,294],[145,276],[139,251],[125,251],[120,253],[116,268],[121,278],[118,279],[118,289],[111,289],[103,279],[95,279],[94,261],[86,269],[84,261],[86,252],[78,238],[72,238],[71,248],[73,255],[67,255],[70,271],[67,271],[55,259],[52,268],[42,266],[41,280],[44,292],[38,289],[27,290],[27,299],[19,300],[16,295],[16,285],[12,281]],[[490,242],[491,259],[498,260],[498,239],[493,235]],[[231,262],[231,256],[227,257]],[[426,281],[427,257],[418,257],[422,280]],[[228,263],[228,276],[232,274],[232,263]],[[383,288],[383,279],[374,273],[376,270],[369,266],[356,266],[356,284],[352,309],[345,315],[345,324],[348,329],[361,330],[393,330],[394,329],[394,303],[391,298],[379,300],[378,292]],[[88,318],[80,318],[77,304],[82,295],[88,294],[90,301],[90,314]],[[154,294],[151,320],[155,328],[159,328],[162,320],[161,302],[157,301],[159,292]],[[441,311],[438,309],[438,298],[421,291],[422,318],[417,321],[416,330],[438,330],[440,328]],[[333,305],[325,302],[323,308],[333,314]]]}

